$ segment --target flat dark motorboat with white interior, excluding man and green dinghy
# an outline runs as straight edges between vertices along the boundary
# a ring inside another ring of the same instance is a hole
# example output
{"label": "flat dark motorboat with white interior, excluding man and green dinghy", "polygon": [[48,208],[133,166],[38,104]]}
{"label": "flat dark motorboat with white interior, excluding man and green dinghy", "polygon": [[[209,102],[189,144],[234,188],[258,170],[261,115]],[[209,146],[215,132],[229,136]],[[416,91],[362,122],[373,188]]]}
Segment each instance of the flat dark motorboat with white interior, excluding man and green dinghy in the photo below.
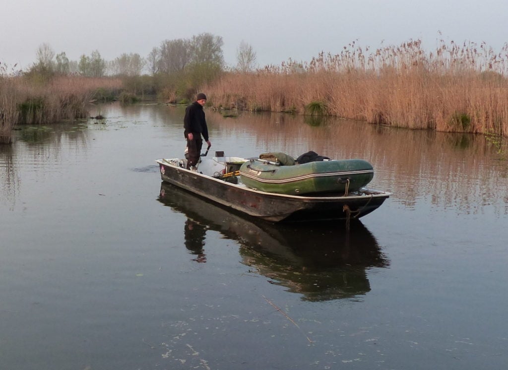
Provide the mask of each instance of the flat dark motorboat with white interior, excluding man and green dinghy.
{"label": "flat dark motorboat with white interior, excluding man and green dinghy", "polygon": [[[220,153],[221,154],[221,153]],[[155,160],[161,179],[217,204],[253,217],[279,221],[354,219],[376,210],[391,193],[364,187],[354,191],[281,194],[248,187],[242,182],[242,157],[202,157],[198,168],[186,169],[182,158]]]}

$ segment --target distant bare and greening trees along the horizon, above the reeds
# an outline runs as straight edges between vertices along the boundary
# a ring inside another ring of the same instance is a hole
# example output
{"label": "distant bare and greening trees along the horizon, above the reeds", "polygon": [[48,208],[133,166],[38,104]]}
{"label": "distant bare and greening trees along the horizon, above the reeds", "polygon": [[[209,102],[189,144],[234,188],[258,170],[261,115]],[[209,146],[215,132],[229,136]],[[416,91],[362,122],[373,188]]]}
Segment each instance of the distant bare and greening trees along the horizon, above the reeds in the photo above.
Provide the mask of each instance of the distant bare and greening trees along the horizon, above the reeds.
{"label": "distant bare and greening trees along the horizon, above the reeds", "polygon": [[[12,68],[0,75],[22,76],[35,84],[54,77],[116,77],[124,82],[124,89],[133,94],[158,94],[190,98],[196,86],[217,79],[227,70],[224,62],[223,39],[211,33],[201,33],[190,39],[164,40],[153,47],[146,57],[137,53],[123,53],[107,61],[98,50],[82,54],[79,60],[69,60],[65,52],[55,54],[49,44],[36,51],[36,61],[27,71]],[[256,55],[252,47],[241,43],[238,65],[252,70]],[[231,70],[231,69],[230,69]]]}

